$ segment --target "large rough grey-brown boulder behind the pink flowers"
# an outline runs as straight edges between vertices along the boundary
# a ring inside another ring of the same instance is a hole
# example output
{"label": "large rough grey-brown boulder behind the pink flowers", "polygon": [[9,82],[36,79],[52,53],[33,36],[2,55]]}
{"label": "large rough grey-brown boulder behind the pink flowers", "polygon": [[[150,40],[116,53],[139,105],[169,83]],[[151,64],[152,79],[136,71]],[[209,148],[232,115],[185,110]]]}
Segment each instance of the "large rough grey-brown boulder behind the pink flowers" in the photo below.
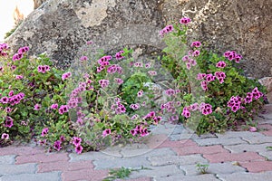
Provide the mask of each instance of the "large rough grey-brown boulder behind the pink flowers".
{"label": "large rough grey-brown boulder behind the pink flowers", "polygon": [[272,75],[271,7],[270,0],[48,0],[8,43],[15,49],[27,44],[32,54],[46,51],[62,66],[89,40],[106,52],[126,44],[158,52],[159,30],[187,15],[194,22],[190,40],[219,53],[237,51],[248,76],[262,78]]}

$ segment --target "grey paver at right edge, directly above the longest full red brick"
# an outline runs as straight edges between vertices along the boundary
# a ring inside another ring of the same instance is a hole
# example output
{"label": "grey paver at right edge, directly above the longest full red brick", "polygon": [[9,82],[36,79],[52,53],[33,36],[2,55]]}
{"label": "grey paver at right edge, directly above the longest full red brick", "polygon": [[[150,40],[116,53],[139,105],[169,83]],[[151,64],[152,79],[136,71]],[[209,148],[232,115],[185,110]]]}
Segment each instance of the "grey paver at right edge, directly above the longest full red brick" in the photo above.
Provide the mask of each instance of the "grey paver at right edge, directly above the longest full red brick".
{"label": "grey paver at right edge, directly above the longest full red brick", "polygon": [[271,144],[269,143],[258,144],[258,145],[241,144],[241,145],[224,146],[224,148],[228,149],[231,153],[243,153],[245,151],[264,153],[268,151],[267,147],[269,146],[271,146]]}

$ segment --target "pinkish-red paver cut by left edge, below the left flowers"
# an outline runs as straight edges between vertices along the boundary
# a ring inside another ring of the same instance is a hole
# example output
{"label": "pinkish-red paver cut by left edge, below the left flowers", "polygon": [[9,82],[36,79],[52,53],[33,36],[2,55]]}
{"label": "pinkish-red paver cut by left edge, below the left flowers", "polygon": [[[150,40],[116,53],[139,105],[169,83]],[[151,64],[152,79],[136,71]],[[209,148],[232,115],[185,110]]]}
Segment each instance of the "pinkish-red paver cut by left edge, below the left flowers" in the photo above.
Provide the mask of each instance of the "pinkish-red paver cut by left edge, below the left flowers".
{"label": "pinkish-red paver cut by left edge, below the left flowers", "polygon": [[44,148],[32,148],[32,147],[6,147],[0,149],[0,156],[6,155],[35,155],[44,153]]}

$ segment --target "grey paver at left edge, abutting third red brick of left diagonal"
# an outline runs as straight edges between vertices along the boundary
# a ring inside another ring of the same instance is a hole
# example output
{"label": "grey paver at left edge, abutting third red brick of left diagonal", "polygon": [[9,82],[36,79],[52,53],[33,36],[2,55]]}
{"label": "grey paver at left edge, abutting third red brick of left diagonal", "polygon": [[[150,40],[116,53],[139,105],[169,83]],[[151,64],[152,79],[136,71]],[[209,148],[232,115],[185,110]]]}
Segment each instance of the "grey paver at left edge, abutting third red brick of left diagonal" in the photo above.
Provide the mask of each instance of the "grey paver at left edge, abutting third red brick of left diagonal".
{"label": "grey paver at left edge, abutting third red brick of left diagonal", "polygon": [[0,175],[34,174],[36,164],[1,165]]}

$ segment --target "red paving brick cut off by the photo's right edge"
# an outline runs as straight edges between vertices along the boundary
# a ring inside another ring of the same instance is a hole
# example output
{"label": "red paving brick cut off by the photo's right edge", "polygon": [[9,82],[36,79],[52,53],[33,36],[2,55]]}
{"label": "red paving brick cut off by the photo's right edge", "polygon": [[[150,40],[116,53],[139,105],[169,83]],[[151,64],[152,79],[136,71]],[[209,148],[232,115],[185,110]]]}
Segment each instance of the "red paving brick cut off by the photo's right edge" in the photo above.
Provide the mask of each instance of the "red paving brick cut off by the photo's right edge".
{"label": "red paving brick cut off by the photo's right edge", "polygon": [[253,161],[253,162],[240,162],[241,167],[248,169],[248,172],[265,172],[272,171],[272,161]]}

